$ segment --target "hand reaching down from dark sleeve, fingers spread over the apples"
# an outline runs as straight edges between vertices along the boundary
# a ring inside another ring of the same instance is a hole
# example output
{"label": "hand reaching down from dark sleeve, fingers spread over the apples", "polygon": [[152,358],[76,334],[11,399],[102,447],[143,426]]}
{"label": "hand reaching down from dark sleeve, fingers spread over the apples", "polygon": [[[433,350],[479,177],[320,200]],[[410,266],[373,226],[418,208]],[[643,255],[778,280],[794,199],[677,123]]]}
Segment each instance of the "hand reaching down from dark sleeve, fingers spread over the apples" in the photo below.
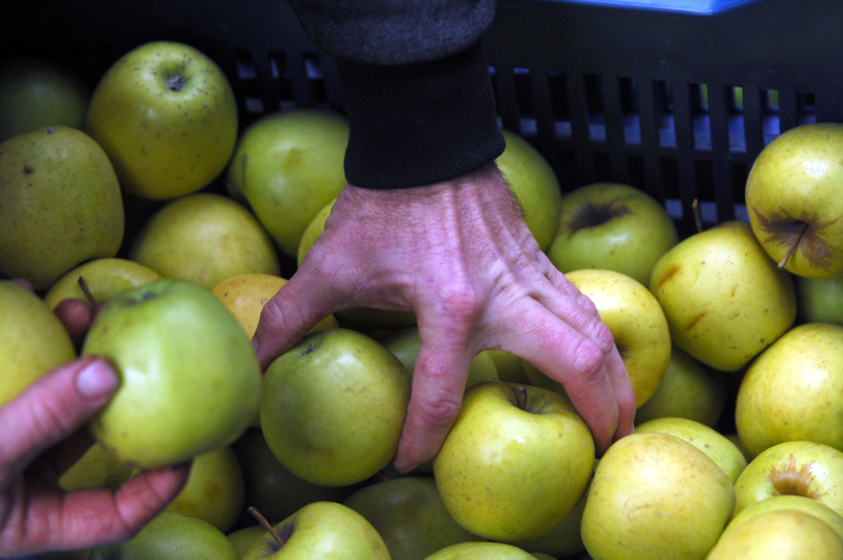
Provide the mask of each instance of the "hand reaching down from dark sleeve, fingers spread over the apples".
{"label": "hand reaching down from dark sleeve, fingers spread over the apples", "polygon": [[432,459],[470,362],[502,348],[560,381],[599,454],[631,433],[635,395],[593,303],[540,250],[495,164],[437,185],[346,186],[255,331],[266,369],[337,310],[416,312],[421,347],[395,468]]}

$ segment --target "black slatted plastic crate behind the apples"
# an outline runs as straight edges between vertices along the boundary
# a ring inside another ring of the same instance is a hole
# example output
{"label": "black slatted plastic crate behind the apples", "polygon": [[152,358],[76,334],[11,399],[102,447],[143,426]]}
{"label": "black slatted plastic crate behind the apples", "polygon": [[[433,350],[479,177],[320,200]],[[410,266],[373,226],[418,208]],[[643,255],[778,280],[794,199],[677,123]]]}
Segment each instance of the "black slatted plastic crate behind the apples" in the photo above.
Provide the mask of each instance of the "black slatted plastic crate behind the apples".
{"label": "black slatted plastic crate behind the apples", "polygon": [[[641,4],[499,0],[484,46],[501,124],[539,148],[563,191],[638,186],[680,234],[695,230],[695,201],[704,224],[746,218],[746,175],[765,143],[843,121],[843,3]],[[57,58],[92,83],[142,42],[196,46],[228,73],[242,127],[293,105],[342,108],[331,59],[285,0],[7,0],[3,14],[3,53]]]}

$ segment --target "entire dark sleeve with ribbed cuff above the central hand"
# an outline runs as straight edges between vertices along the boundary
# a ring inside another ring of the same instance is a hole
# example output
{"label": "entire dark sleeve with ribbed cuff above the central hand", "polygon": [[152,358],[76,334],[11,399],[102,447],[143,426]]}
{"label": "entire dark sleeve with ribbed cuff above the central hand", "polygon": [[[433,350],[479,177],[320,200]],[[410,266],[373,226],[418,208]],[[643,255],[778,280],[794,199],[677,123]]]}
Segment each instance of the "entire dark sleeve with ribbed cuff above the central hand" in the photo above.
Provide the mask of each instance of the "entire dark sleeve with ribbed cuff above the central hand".
{"label": "entire dark sleeve with ribbed cuff above the central hand", "polygon": [[481,48],[493,1],[288,1],[314,44],[336,58],[353,185],[429,185],[502,153]]}

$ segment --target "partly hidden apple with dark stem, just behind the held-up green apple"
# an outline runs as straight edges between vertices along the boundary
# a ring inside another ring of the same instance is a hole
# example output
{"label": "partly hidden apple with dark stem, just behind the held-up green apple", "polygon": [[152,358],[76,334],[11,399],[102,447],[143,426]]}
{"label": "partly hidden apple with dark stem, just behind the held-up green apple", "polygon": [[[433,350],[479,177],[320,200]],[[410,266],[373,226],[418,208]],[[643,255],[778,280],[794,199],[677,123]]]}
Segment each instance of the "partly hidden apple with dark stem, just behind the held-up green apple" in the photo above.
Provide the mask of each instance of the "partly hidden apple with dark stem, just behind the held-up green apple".
{"label": "partly hidden apple with dark stem, just behind the held-up green apple", "polygon": [[92,304],[105,303],[126,288],[135,288],[158,280],[161,275],[139,262],[118,257],[85,261],[56,280],[44,301],[51,310],[62,299],[83,299]]}

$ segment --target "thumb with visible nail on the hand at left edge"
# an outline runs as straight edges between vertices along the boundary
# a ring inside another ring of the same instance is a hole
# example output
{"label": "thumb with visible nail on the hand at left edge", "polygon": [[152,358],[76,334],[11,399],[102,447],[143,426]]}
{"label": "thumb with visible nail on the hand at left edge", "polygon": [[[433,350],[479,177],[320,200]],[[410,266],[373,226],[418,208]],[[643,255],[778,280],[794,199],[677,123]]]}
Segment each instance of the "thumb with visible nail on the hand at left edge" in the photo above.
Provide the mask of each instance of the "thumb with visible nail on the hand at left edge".
{"label": "thumb with visible nail on the hand at left edge", "polygon": [[109,363],[94,356],[78,358],[36,380],[0,408],[5,439],[0,471],[10,478],[18,475],[103,407],[118,384]]}

